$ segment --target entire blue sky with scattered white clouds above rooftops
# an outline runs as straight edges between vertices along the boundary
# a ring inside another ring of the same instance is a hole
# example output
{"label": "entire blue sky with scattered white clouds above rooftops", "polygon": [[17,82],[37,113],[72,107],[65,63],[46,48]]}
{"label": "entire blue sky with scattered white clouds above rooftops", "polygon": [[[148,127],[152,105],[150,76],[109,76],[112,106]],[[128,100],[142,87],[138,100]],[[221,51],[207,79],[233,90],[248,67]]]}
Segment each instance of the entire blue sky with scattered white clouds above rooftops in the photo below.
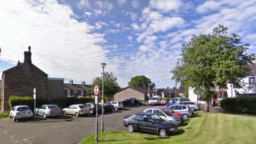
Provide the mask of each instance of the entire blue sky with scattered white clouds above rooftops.
{"label": "entire blue sky with scattered white clouds above rooftops", "polygon": [[219,23],[255,53],[255,7],[256,0],[0,0],[0,74],[31,46],[34,65],[65,82],[91,84],[105,62],[121,87],[136,75],[173,87],[182,44]]}

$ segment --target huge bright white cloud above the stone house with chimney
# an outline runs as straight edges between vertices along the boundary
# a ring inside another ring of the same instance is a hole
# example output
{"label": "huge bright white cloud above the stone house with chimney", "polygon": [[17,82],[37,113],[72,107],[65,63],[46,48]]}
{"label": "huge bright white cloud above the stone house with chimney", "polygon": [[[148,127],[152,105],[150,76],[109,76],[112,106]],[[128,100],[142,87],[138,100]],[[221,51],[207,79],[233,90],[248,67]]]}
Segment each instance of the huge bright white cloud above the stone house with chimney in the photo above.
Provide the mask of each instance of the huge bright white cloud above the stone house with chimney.
{"label": "huge bright white cloud above the stone house with chimney", "polygon": [[[31,4],[33,3],[33,4]],[[99,44],[104,35],[93,33],[93,26],[71,18],[73,11],[57,1],[34,4],[31,1],[1,1],[1,60],[16,64],[31,46],[32,62],[50,77],[91,82],[99,76],[101,62],[109,63]],[[20,52],[13,52],[20,51]],[[108,65],[116,71],[116,66]]]}

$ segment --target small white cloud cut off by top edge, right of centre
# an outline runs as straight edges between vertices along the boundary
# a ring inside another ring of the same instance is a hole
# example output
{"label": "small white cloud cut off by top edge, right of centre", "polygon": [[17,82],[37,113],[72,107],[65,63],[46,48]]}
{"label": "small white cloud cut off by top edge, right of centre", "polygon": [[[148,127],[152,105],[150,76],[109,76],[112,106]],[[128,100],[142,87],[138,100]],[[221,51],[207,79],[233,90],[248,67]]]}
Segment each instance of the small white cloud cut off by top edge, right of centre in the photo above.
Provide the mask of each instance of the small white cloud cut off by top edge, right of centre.
{"label": "small white cloud cut off by top edge, right of centre", "polygon": [[149,5],[162,12],[177,11],[183,4],[181,0],[151,0]]}

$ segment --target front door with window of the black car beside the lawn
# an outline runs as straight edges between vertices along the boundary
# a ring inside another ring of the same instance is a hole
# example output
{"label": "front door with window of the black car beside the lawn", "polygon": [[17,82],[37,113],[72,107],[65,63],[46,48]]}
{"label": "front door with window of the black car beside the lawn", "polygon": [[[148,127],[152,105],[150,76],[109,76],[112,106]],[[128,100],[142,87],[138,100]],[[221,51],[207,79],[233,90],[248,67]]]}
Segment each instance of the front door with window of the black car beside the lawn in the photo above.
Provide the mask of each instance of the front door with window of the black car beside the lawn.
{"label": "front door with window of the black car beside the lawn", "polygon": [[145,132],[151,132],[151,133],[156,133],[156,126],[155,123],[153,121],[150,121],[151,118],[147,115],[143,115],[143,119],[142,121],[139,123],[140,124],[140,128],[142,131]]}

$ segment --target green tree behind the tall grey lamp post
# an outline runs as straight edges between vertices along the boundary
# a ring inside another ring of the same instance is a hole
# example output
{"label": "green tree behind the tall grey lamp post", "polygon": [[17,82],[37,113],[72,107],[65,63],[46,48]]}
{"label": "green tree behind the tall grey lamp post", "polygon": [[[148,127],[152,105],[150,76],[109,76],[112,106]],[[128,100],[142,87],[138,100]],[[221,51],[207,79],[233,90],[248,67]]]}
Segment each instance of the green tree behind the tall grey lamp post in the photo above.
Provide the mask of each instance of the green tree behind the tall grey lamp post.
{"label": "green tree behind the tall grey lamp post", "polygon": [[[101,73],[102,75],[102,73]],[[113,95],[120,89],[117,81],[117,77],[114,76],[113,72],[111,73],[104,73],[104,97],[108,101],[110,97],[113,97]],[[99,91],[99,97],[102,96],[102,76],[101,77],[95,77],[92,80],[92,86],[90,89],[90,92],[93,93],[94,85],[98,85],[100,88]]]}

